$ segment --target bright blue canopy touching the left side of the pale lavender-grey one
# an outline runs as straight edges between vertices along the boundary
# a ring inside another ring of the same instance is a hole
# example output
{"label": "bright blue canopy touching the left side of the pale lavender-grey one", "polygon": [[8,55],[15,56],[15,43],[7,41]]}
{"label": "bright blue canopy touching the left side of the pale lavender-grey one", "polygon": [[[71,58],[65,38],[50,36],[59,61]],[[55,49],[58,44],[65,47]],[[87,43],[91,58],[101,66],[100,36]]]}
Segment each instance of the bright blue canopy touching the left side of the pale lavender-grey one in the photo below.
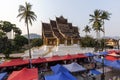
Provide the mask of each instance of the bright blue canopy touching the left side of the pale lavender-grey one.
{"label": "bright blue canopy touching the left side of the pale lavender-grey one", "polygon": [[59,72],[69,72],[65,67],[63,67],[60,64],[57,64],[55,66],[51,66],[51,69],[54,73],[59,73]]}

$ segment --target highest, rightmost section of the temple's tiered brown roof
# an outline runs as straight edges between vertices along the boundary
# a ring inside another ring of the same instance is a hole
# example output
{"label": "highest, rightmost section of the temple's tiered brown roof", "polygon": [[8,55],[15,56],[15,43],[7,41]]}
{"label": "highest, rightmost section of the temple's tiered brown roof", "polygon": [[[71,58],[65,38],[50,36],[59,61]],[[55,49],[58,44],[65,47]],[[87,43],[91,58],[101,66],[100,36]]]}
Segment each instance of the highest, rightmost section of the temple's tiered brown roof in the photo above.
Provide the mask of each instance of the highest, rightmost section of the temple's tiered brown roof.
{"label": "highest, rightmost section of the temple's tiered brown roof", "polygon": [[67,38],[80,38],[78,28],[72,26],[72,23],[68,23],[67,19],[63,16],[56,18],[58,28],[62,34]]}

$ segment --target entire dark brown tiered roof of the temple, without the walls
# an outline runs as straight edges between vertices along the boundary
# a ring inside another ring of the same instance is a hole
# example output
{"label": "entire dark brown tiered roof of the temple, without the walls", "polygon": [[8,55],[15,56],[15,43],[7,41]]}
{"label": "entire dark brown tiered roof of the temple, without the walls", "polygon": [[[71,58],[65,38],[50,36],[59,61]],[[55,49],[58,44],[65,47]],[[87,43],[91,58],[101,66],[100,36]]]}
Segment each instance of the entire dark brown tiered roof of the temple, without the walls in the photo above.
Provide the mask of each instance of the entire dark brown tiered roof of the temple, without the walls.
{"label": "entire dark brown tiered roof of the temple, without the walls", "polygon": [[80,38],[78,27],[68,23],[63,16],[56,17],[56,21],[50,20],[49,23],[42,23],[43,34],[45,37],[64,38]]}

